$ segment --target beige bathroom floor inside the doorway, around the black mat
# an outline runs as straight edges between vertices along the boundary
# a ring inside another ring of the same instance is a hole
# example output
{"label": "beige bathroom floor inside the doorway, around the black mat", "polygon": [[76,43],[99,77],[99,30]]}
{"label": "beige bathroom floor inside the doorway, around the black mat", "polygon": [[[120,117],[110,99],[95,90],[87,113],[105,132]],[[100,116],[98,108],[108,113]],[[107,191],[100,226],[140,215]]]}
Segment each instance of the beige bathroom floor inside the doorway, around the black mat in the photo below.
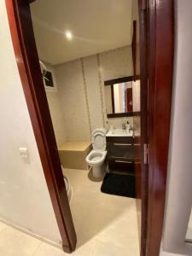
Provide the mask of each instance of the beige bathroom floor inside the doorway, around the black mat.
{"label": "beige bathroom floor inside the doorway, around the black mat", "polygon": [[[139,255],[136,200],[103,194],[102,182],[91,181],[87,171],[66,169],[64,172],[73,185],[71,209],[77,248],[90,245],[91,248],[96,241],[96,256],[121,255],[122,252],[126,252],[122,254],[126,256]],[[113,252],[109,249],[112,246]]]}

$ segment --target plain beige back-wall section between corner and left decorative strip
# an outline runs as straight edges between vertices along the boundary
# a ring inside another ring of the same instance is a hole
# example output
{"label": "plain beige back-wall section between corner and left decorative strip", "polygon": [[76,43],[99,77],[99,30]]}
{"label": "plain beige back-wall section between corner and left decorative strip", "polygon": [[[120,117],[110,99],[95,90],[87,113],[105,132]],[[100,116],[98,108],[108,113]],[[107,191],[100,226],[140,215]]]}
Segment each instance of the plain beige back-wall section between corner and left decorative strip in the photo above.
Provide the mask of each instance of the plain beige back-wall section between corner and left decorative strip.
{"label": "plain beige back-wall section between corner and left decorative strip", "polygon": [[55,78],[61,93],[61,111],[67,141],[89,140],[89,119],[81,61],[70,61],[55,67]]}

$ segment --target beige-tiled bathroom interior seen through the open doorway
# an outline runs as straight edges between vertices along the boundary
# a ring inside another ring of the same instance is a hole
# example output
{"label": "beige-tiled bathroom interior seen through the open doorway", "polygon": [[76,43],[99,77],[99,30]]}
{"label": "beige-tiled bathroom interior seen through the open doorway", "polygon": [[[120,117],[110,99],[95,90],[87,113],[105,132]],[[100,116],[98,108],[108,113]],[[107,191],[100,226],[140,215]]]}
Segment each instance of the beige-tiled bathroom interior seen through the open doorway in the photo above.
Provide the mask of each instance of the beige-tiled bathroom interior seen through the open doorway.
{"label": "beige-tiled bathroom interior seen through the open doorway", "polygon": [[96,242],[139,255],[137,1],[85,1],[88,17],[71,1],[51,2],[31,4],[32,25],[77,248]]}

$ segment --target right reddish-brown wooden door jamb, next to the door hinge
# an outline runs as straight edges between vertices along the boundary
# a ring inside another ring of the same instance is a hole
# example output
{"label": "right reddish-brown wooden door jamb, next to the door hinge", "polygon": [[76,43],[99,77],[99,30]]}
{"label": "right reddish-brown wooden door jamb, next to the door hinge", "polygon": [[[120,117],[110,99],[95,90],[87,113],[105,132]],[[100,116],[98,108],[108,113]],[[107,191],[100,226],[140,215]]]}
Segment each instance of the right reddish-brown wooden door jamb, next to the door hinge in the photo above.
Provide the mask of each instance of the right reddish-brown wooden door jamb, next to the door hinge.
{"label": "right reddish-brown wooden door jamb, next to the door hinge", "polygon": [[[148,211],[146,255],[159,256],[172,108],[174,0],[141,0],[147,19]],[[144,78],[146,83],[146,77]],[[146,138],[147,139],[147,138]],[[145,212],[146,214],[146,212]],[[146,230],[145,230],[146,231]]]}

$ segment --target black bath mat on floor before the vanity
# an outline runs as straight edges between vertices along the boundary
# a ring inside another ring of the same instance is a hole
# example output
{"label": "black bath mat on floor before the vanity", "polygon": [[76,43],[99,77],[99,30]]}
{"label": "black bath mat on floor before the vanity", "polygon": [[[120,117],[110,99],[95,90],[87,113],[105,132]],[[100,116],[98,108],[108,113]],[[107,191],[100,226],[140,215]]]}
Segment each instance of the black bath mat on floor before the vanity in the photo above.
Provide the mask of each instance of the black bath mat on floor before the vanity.
{"label": "black bath mat on floor before the vanity", "polygon": [[102,193],[136,198],[135,177],[107,173],[102,182]]}

